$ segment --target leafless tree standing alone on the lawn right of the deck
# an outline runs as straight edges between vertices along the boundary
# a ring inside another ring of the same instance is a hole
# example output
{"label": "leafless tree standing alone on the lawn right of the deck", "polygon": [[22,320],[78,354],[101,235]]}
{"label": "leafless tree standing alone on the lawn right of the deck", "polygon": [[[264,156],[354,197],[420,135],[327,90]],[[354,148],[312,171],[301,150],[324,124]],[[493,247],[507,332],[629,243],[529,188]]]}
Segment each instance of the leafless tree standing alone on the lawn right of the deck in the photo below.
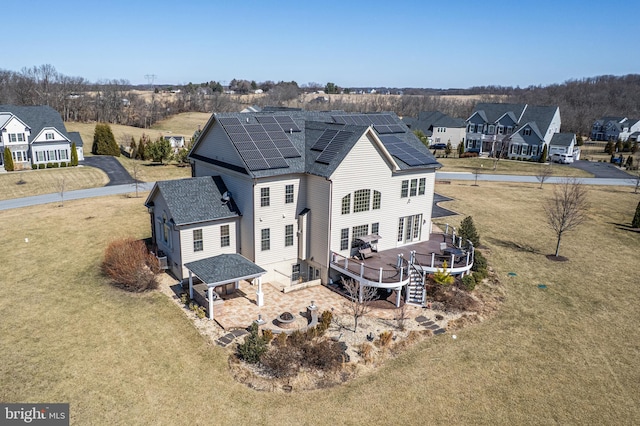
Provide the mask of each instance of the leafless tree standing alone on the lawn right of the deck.
{"label": "leafless tree standing alone on the lawn right of the deck", "polygon": [[547,223],[558,238],[556,254],[560,252],[562,236],[587,219],[587,190],[576,179],[565,179],[553,190],[553,196],[544,204]]}

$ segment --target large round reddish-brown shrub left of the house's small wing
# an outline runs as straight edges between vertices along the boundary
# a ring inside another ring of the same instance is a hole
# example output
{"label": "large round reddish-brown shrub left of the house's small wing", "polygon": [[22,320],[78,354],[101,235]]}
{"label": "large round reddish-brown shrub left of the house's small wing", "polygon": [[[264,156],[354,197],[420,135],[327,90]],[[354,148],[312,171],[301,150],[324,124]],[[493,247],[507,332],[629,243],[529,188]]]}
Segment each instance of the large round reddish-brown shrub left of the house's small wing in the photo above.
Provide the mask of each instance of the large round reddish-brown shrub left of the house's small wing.
{"label": "large round reddish-brown shrub left of the house's small wing", "polygon": [[158,287],[156,274],[160,268],[143,241],[123,238],[107,246],[102,272],[111,278],[113,285],[140,292]]}

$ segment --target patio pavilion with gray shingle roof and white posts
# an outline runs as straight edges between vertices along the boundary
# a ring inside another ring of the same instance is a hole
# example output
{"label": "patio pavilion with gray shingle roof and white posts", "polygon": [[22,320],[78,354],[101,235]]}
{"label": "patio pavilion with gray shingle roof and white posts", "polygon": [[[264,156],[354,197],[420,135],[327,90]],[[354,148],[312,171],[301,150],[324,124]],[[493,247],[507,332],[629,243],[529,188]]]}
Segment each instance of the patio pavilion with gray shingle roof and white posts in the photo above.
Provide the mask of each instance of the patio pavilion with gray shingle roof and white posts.
{"label": "patio pavilion with gray shingle roof and white posts", "polygon": [[241,280],[257,278],[256,303],[258,306],[264,305],[262,275],[267,271],[240,254],[221,254],[185,263],[184,266],[189,270],[189,297],[191,299],[193,299],[194,275],[207,286],[210,320],[213,319],[213,290],[220,285],[235,283],[237,290]]}

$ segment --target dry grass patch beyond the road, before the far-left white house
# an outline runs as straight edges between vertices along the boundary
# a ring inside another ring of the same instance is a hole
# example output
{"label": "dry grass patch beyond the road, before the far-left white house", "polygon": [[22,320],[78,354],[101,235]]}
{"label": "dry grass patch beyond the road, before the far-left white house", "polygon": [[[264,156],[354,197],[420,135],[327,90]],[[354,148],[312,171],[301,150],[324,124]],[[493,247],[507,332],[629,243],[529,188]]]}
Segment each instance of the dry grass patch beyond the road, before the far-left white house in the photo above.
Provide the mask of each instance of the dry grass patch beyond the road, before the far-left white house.
{"label": "dry grass patch beyond the road, before the far-left white house", "polygon": [[0,173],[0,200],[57,192],[62,179],[65,191],[96,188],[109,183],[107,175],[93,167]]}

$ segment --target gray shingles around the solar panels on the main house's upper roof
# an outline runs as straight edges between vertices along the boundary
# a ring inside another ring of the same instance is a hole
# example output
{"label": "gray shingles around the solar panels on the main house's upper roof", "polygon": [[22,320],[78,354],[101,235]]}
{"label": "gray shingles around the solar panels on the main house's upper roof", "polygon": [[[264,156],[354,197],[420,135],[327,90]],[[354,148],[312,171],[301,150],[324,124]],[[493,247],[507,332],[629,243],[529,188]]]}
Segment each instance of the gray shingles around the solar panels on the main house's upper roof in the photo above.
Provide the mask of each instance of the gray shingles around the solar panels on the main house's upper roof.
{"label": "gray shingles around the solar panels on the main house's upper roof", "polygon": [[[438,168],[440,164],[437,162],[435,157],[431,154],[431,152],[420,142],[420,140],[409,130],[409,128],[392,112],[384,112],[384,114],[389,114],[393,117],[393,120],[403,129],[402,133],[394,133],[395,136],[399,137],[403,141],[407,142],[415,149],[423,152],[429,158],[433,159],[433,162],[424,166],[414,166],[410,167],[407,164],[403,163],[399,159],[396,159],[398,166],[401,169],[412,169],[412,168]],[[296,123],[298,128],[301,130],[300,132],[287,132],[287,137],[295,146],[295,148],[300,153],[301,157],[297,158],[285,158],[285,161],[288,165],[286,168],[278,168],[278,169],[268,169],[268,170],[249,170],[247,168],[246,173],[255,178],[260,177],[269,177],[269,176],[278,176],[285,175],[291,173],[310,173],[319,176],[329,177],[333,171],[338,167],[342,159],[344,159],[345,155],[351,150],[351,148],[355,145],[358,139],[364,134],[369,126],[358,126],[358,125],[343,125],[337,124],[334,122],[333,116],[338,115],[350,115],[349,113],[345,113],[344,111],[302,111],[296,109],[276,109],[276,108],[264,108],[262,112],[244,112],[244,113],[217,113],[214,114],[212,120],[209,120],[207,123],[207,127],[219,126],[217,120],[220,118],[237,118],[242,124],[256,124],[258,123],[256,117],[264,117],[264,116],[278,116],[284,115],[289,116]],[[223,127],[224,129],[224,127]],[[319,156],[319,152],[311,150],[311,146],[318,140],[318,137],[322,134],[325,129],[337,129],[344,131],[351,131],[354,134],[347,141],[343,142],[343,145],[340,147],[337,155],[332,159],[330,164],[321,164],[317,163],[315,160]],[[208,129],[205,128],[203,133]],[[215,162],[214,159],[207,159],[198,154],[195,154],[198,148],[198,144],[205,143],[206,137],[201,137],[191,151],[190,156],[195,159],[199,159],[202,161],[212,161]],[[223,165],[224,166],[224,165]],[[232,167],[229,165],[229,167]]]}

